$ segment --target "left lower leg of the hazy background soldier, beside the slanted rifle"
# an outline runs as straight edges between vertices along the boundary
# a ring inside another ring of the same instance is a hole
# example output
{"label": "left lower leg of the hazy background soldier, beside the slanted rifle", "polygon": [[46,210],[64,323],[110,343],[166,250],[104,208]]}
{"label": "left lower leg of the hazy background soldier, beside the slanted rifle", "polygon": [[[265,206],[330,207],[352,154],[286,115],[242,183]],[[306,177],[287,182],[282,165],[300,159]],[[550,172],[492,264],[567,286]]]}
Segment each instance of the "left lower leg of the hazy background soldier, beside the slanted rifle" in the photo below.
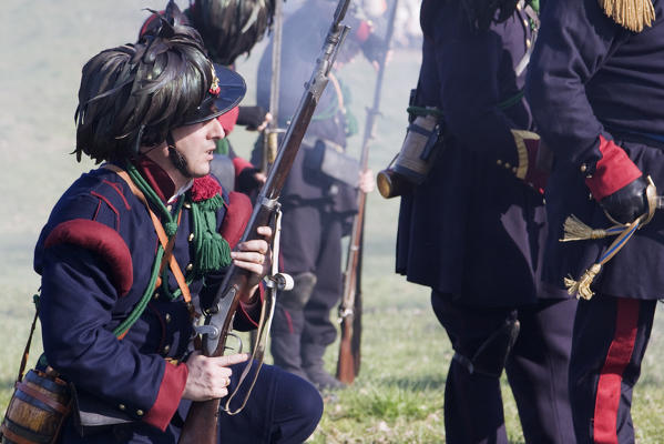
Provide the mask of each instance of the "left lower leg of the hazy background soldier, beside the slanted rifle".
{"label": "left lower leg of the hazy background soldier, beside the slanted rifle", "polygon": [[316,276],[313,273],[300,273],[293,276],[293,280],[295,281],[293,290],[277,296],[269,351],[276,366],[307,380],[302,369],[300,357],[303,310],[311,296]]}

